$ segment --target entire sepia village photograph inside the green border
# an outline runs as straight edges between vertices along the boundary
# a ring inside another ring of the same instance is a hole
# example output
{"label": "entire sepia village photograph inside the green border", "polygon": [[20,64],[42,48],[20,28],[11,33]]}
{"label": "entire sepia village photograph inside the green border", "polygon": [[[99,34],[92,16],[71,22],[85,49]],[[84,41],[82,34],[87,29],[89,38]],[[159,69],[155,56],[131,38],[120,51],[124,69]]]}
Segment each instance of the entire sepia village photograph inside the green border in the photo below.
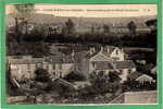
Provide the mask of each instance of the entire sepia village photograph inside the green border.
{"label": "entire sepia village photograph inside the green border", "polygon": [[8,105],[156,105],[156,4],[5,5]]}

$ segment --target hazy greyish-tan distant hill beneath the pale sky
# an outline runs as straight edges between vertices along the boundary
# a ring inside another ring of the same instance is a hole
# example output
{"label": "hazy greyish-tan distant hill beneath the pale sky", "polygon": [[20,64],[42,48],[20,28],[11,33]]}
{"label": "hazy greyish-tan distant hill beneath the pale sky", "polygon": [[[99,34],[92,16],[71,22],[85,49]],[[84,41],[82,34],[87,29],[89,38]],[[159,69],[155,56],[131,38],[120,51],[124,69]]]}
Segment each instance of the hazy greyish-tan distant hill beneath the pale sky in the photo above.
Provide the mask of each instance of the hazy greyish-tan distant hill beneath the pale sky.
{"label": "hazy greyish-tan distant hill beneath the pale sky", "polygon": [[[126,26],[127,23],[134,21],[138,27],[146,27],[145,22],[148,20],[156,19],[155,15],[151,16],[137,16],[137,17],[66,17],[66,16],[53,16],[52,14],[34,14],[30,17],[33,23],[46,23],[46,24],[63,24],[72,19],[76,25],[88,26],[88,25],[114,25],[114,26]],[[7,16],[8,24],[14,24],[14,20],[11,14]]]}

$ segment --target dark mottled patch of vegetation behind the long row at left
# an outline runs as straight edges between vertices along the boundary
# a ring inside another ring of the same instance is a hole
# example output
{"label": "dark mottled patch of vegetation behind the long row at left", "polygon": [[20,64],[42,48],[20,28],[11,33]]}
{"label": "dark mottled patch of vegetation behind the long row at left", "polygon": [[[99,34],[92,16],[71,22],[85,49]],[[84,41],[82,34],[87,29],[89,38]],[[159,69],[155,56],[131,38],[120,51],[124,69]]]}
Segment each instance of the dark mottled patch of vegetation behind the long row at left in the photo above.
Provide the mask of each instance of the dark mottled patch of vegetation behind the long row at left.
{"label": "dark mottled patch of vegetation behind the long row at left", "polygon": [[43,57],[49,56],[50,48],[49,44],[42,43],[9,43],[7,44],[7,55],[8,56],[26,56],[30,55],[33,57]]}

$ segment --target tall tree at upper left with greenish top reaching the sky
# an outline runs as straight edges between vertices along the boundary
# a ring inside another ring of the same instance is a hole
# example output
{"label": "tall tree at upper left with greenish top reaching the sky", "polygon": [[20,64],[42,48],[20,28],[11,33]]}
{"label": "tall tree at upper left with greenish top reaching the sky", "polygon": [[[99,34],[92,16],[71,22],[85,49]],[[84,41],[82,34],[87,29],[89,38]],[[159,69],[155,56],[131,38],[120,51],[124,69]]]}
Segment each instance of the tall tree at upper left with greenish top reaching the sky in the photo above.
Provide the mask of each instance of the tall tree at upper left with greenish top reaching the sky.
{"label": "tall tree at upper left with greenish top reaching the sky", "polygon": [[[17,41],[21,43],[21,28],[25,28],[25,34],[28,33],[28,20],[30,15],[35,12],[34,4],[15,4],[14,5],[14,12],[13,17],[15,20],[15,34],[17,36]],[[20,24],[22,24],[23,27],[20,27]]]}

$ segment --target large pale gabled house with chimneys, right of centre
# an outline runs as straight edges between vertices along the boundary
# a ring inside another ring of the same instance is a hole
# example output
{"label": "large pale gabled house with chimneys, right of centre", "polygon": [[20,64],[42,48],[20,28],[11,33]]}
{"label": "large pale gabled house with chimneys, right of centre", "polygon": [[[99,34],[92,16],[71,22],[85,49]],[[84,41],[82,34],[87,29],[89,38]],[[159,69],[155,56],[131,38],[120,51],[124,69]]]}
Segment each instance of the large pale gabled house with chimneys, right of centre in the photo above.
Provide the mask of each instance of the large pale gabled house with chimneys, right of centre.
{"label": "large pale gabled house with chimneys, right of centre", "polygon": [[125,52],[118,47],[101,47],[100,51],[90,48],[90,51],[83,59],[83,73],[89,77],[92,72],[108,74],[118,72],[122,82],[127,80],[127,75],[136,71],[131,60],[125,60]]}

